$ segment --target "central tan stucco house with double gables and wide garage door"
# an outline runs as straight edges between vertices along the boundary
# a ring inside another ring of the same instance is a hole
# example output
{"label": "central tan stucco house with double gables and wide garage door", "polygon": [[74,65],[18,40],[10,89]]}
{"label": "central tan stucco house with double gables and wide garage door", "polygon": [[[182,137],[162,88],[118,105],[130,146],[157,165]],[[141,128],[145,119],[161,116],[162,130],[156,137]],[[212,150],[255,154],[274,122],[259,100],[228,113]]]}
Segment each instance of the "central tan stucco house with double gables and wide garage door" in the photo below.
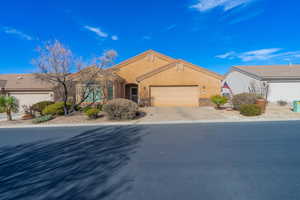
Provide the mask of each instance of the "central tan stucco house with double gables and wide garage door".
{"label": "central tan stucco house with double gables and wide garage door", "polygon": [[114,97],[151,106],[199,106],[220,94],[223,76],[184,60],[177,60],[149,50],[113,66],[123,79],[114,87]]}

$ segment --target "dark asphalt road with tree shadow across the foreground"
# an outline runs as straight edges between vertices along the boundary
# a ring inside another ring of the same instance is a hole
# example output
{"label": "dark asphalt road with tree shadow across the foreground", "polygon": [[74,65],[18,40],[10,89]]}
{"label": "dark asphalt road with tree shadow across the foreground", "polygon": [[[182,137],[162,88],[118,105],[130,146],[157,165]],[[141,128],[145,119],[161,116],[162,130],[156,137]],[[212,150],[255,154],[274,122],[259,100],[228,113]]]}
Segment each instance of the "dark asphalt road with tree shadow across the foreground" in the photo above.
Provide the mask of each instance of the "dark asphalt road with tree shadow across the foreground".
{"label": "dark asphalt road with tree shadow across the foreground", "polygon": [[300,122],[0,129],[0,199],[298,200]]}

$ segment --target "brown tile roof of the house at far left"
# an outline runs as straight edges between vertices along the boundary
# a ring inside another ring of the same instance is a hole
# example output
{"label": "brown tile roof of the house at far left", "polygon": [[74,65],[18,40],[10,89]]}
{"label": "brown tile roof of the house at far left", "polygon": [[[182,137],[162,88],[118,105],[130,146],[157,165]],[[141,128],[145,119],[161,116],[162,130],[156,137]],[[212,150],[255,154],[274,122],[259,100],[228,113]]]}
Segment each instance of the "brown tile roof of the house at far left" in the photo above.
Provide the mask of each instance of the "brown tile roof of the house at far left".
{"label": "brown tile roof of the house at far left", "polygon": [[5,90],[51,90],[49,83],[43,82],[34,74],[0,74],[0,87]]}

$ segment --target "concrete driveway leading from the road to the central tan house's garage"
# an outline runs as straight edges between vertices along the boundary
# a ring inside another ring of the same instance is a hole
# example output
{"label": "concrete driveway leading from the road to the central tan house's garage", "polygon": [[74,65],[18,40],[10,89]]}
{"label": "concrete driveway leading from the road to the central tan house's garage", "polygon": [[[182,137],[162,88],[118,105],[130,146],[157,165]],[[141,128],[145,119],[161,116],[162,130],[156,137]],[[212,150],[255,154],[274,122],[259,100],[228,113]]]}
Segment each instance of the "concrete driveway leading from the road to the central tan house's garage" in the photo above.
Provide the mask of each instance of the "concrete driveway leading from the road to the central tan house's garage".
{"label": "concrete driveway leading from the road to the central tan house's garage", "polygon": [[226,119],[213,107],[147,107],[143,110],[147,115],[141,122]]}

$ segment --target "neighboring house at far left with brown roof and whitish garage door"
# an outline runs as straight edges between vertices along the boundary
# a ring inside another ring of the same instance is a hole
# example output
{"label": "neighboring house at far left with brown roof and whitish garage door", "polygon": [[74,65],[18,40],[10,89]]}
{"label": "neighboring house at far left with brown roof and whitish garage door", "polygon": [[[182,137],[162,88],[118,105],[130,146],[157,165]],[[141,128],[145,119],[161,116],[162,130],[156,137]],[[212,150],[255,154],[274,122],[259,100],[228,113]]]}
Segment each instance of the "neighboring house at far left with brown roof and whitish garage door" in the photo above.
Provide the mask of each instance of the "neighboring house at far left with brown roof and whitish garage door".
{"label": "neighboring house at far left with brown roof and whitish garage door", "polygon": [[54,98],[51,86],[36,79],[33,74],[0,74],[0,90],[0,94],[18,99],[20,111],[23,111],[23,105],[30,106]]}

